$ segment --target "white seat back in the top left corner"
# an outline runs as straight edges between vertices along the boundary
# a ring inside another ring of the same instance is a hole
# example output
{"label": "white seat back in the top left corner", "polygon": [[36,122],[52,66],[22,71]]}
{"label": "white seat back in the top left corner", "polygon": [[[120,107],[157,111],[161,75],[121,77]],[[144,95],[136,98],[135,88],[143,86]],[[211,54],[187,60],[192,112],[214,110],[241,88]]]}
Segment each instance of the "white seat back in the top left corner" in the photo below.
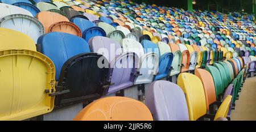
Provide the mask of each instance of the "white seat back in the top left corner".
{"label": "white seat back in the top left corner", "polygon": [[29,12],[28,10],[25,10],[24,8],[20,8],[18,6],[0,3],[0,8],[1,8],[0,18],[3,18],[4,16],[7,16],[7,15],[14,15],[14,14],[33,16],[31,12]]}

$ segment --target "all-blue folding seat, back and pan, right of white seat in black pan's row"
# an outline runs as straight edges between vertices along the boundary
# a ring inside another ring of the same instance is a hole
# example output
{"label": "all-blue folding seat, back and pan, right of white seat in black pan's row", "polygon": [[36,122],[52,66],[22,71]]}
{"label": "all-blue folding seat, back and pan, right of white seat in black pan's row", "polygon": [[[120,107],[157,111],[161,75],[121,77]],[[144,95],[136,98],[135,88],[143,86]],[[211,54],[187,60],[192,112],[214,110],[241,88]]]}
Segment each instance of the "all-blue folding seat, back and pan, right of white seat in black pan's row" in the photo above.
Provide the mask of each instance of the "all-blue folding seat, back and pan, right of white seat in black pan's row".
{"label": "all-blue folding seat, back and pan, right of white seat in black pan's row", "polygon": [[170,52],[164,53],[162,56],[160,56],[158,45],[152,41],[142,40],[141,44],[145,53],[154,52],[159,56],[159,71],[154,80],[166,78],[171,70],[172,59],[174,58],[174,55]]}

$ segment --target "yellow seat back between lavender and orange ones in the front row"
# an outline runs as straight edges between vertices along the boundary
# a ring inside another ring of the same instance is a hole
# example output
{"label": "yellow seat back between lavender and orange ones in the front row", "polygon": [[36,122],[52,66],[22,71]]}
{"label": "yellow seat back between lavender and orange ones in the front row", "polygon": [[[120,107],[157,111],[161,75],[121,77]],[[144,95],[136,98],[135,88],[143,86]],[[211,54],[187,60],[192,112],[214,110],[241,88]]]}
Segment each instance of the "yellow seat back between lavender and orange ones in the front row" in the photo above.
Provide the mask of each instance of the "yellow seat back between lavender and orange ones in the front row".
{"label": "yellow seat back between lavender and orange ones in the front row", "polygon": [[185,93],[189,120],[195,121],[201,116],[204,116],[207,113],[207,106],[201,80],[196,75],[181,73],[177,78],[177,85]]}

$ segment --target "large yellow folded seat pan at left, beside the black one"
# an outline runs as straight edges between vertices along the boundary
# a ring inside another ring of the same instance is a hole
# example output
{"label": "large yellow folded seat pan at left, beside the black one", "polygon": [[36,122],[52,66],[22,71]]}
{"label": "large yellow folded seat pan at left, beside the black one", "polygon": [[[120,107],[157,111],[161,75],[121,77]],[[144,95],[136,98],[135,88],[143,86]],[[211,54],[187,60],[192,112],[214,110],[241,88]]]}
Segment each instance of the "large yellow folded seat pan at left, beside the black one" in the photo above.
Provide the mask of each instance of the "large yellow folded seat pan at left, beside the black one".
{"label": "large yellow folded seat pan at left, beside the black one", "polygon": [[[0,120],[26,120],[51,112],[55,66],[32,50],[0,51]],[[48,93],[47,93],[48,92]]]}

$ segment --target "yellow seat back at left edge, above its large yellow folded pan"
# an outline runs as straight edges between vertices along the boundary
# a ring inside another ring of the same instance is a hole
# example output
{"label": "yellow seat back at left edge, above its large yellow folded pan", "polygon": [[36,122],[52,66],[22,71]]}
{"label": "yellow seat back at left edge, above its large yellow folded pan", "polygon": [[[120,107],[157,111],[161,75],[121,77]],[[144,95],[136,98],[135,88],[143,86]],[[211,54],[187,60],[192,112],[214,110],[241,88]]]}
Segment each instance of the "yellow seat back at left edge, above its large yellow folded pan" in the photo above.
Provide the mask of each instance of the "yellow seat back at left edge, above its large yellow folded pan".
{"label": "yellow seat back at left edge, above its large yellow folded pan", "polygon": [[22,32],[0,28],[0,40],[0,50],[27,49],[36,51],[34,40]]}

